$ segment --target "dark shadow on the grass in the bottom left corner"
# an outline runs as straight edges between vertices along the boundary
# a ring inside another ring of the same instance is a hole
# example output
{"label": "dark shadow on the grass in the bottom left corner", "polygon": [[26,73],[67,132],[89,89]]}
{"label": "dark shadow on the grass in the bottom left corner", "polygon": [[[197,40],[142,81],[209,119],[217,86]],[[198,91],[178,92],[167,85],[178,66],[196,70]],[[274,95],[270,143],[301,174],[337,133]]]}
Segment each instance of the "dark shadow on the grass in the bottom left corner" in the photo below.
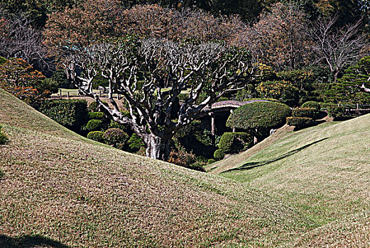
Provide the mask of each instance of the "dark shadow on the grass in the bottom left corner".
{"label": "dark shadow on the grass in the bottom left corner", "polygon": [[48,247],[48,248],[70,248],[48,237],[40,235],[25,235],[21,237],[9,237],[0,235],[0,247],[6,248],[34,248],[34,247]]}

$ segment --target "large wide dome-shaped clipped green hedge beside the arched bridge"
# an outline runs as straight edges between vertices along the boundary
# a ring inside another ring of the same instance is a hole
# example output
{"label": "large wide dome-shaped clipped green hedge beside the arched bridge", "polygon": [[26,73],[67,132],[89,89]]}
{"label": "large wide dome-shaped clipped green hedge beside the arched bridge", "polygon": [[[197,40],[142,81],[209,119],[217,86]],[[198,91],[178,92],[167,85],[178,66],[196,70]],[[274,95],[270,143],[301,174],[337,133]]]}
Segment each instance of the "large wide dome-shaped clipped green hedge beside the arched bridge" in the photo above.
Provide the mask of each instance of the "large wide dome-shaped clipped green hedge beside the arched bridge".
{"label": "large wide dome-shaped clipped green hedge beside the arched bridge", "polygon": [[248,130],[250,128],[278,128],[290,116],[289,106],[283,103],[261,101],[236,108],[227,119],[227,127]]}

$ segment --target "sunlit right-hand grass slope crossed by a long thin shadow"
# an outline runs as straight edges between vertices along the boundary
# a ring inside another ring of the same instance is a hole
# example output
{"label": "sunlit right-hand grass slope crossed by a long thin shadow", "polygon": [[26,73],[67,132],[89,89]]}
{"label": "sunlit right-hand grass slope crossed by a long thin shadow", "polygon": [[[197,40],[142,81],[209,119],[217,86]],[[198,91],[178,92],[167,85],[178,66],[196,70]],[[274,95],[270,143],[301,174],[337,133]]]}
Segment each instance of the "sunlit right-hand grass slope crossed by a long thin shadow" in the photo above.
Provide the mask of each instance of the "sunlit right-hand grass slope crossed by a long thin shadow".
{"label": "sunlit right-hand grass slope crossed by a long thin shadow", "polygon": [[369,144],[370,115],[325,123],[285,134],[222,175],[283,199],[321,226],[292,246],[369,247]]}

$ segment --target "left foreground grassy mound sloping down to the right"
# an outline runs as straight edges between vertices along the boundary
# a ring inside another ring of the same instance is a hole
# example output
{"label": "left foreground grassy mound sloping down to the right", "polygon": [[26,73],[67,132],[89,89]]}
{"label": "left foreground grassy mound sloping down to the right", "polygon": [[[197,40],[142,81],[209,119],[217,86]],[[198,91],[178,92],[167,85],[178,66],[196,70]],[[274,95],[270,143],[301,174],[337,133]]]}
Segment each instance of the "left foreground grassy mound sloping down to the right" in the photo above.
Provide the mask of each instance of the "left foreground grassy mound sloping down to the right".
{"label": "left foreground grassy mound sloping down to the right", "polygon": [[273,247],[312,230],[283,201],[87,141],[0,90],[0,247]]}

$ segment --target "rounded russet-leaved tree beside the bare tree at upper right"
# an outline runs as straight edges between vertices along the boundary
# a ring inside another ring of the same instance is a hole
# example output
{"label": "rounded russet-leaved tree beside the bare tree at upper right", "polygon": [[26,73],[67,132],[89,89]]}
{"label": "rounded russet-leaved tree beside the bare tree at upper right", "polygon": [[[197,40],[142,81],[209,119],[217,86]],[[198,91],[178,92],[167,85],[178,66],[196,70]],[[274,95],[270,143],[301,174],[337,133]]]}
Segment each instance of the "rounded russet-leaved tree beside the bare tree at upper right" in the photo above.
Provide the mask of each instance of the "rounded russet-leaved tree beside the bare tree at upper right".
{"label": "rounded russet-leaved tree beside the bare tree at upper right", "polygon": [[298,6],[277,3],[261,13],[259,22],[236,33],[232,43],[247,47],[277,69],[295,69],[310,57],[308,19]]}

